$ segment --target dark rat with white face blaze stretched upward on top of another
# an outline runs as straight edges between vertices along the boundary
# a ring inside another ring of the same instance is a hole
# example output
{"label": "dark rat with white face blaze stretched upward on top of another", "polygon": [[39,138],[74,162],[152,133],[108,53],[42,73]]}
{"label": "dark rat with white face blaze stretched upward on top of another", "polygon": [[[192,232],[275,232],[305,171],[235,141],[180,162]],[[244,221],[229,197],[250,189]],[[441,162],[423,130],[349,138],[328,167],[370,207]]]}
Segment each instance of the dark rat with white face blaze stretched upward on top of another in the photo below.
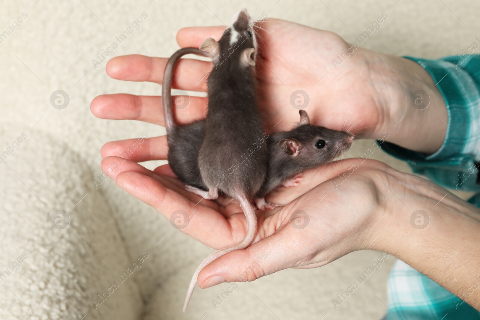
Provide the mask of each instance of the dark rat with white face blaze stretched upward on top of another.
{"label": "dark rat with white face blaze stretched upward on top of another", "polygon": [[218,42],[208,38],[200,49],[212,54],[214,68],[208,76],[205,135],[198,155],[200,175],[208,192],[196,191],[205,199],[216,199],[221,191],[238,200],[247,218],[247,233],[240,243],[216,251],[200,264],[192,277],[184,311],[198,274],[206,265],[225,253],[252,244],[257,233],[252,201],[262,187],[267,169],[266,134],[257,105],[253,68],[256,39],[246,9],[233,17]]}

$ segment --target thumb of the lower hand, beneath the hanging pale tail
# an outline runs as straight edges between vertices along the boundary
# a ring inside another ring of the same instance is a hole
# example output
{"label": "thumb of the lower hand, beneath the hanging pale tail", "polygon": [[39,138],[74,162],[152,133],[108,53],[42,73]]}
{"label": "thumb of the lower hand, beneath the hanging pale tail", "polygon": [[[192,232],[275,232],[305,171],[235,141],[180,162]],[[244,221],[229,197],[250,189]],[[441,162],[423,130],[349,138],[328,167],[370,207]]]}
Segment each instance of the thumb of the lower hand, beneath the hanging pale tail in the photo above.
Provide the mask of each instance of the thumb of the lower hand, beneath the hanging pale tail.
{"label": "thumb of the lower hand, beneath the hanging pale tail", "polygon": [[264,275],[291,268],[296,254],[287,238],[289,224],[249,248],[226,253],[208,264],[198,275],[198,285],[204,289],[223,282],[253,281]]}

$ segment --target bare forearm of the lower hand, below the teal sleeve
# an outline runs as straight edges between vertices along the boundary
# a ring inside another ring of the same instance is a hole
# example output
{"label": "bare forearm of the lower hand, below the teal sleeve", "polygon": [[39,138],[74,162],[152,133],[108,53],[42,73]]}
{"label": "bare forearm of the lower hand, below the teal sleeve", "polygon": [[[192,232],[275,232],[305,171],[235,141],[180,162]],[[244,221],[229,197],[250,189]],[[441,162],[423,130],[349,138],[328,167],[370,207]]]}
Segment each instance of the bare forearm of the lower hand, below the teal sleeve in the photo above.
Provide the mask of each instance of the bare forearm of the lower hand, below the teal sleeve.
{"label": "bare forearm of the lower hand, below the teal sleeve", "polygon": [[401,180],[402,185],[390,185],[398,198],[390,193],[392,205],[379,219],[374,246],[479,309],[479,209],[426,180],[410,175]]}

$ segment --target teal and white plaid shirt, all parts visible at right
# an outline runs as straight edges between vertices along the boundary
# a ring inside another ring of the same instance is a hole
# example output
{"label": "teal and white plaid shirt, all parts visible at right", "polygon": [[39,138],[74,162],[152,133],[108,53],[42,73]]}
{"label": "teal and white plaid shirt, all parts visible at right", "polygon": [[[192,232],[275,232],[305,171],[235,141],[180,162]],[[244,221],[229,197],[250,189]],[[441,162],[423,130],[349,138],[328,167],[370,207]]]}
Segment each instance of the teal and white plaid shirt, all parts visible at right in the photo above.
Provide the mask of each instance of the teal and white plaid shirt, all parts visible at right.
{"label": "teal and white plaid shirt, all parts visible at right", "polygon": [[[380,144],[413,172],[451,189],[480,191],[480,55],[438,60],[411,58],[430,73],[443,95],[448,123],[442,147],[431,155]],[[421,110],[418,110],[421,112]],[[469,200],[480,207],[480,193]],[[480,320],[480,312],[432,279],[397,261],[388,280],[385,320]]]}

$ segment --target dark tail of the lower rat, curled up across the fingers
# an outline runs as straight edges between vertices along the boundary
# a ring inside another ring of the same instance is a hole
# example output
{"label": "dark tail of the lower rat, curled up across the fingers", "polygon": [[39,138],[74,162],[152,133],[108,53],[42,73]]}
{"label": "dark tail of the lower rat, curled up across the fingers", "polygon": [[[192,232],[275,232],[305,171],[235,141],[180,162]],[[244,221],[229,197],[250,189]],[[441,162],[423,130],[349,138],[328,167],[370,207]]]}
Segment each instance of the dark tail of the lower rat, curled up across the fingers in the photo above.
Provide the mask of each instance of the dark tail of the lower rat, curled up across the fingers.
{"label": "dark tail of the lower rat, curled up across the fingers", "polygon": [[165,128],[167,130],[167,134],[170,135],[170,132],[175,129],[175,119],[173,119],[173,106],[172,106],[172,96],[171,96],[171,89],[172,89],[172,78],[173,78],[173,70],[175,69],[175,65],[177,61],[184,55],[193,53],[199,56],[204,57],[212,57],[209,52],[204,50],[200,50],[198,48],[193,47],[186,47],[177,50],[171,57],[168,59],[167,65],[165,66],[165,71],[163,73],[163,81],[162,81],[162,107],[163,107],[163,115],[165,117]]}

